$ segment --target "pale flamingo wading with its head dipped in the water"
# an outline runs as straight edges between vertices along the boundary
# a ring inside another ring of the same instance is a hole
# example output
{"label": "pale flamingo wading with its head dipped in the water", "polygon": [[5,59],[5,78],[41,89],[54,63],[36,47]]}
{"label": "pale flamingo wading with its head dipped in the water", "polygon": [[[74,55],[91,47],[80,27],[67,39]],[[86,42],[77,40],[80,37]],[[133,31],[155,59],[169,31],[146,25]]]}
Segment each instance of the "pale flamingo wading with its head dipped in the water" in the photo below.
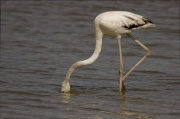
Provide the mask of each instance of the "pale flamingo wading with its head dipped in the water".
{"label": "pale flamingo wading with its head dipped in the water", "polygon": [[[134,14],[127,11],[109,11],[99,14],[94,21],[95,24],[95,49],[94,53],[89,59],[78,61],[74,63],[69,70],[67,71],[66,77],[62,83],[61,92],[66,93],[70,91],[69,79],[74,71],[74,69],[92,64],[98,57],[101,52],[102,47],[102,38],[103,36],[115,36],[118,40],[119,45],[119,58],[120,58],[120,68],[119,68],[119,90],[120,92],[125,91],[124,80],[125,78],[143,61],[150,55],[150,50],[143,45],[140,41],[135,39],[129,33],[139,29],[139,28],[151,28],[155,27],[155,24],[144,16]],[[129,38],[134,40],[139,44],[146,54],[142,59],[140,59],[134,67],[132,67],[125,76],[123,76],[123,60],[122,60],[122,50],[121,50],[121,36],[126,34]]]}

